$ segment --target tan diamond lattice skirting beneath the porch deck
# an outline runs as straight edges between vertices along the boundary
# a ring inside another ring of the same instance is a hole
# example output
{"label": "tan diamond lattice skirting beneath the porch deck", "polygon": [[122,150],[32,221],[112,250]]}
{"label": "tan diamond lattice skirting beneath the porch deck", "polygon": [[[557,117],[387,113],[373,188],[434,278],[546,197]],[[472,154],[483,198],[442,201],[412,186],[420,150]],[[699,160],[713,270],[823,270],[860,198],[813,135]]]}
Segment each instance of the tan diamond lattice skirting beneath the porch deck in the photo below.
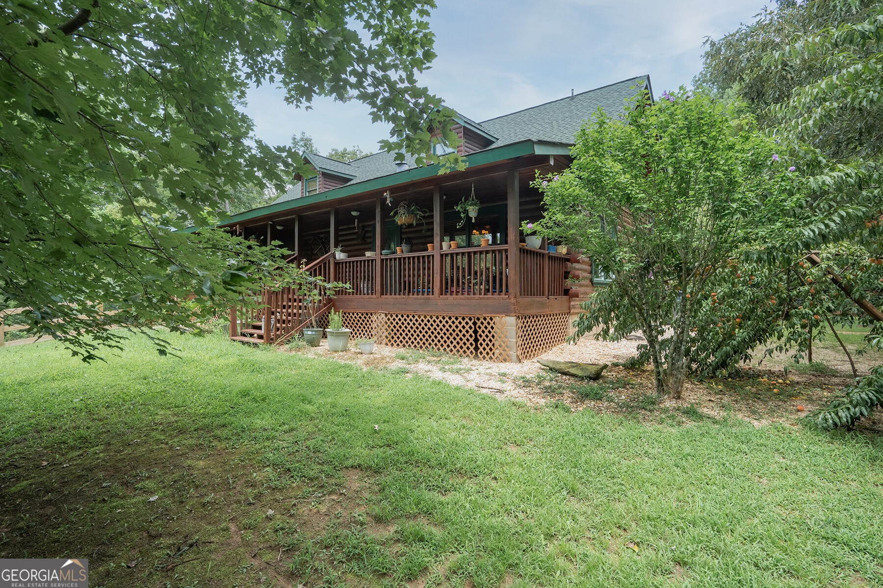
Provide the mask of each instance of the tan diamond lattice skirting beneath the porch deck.
{"label": "tan diamond lattice skirting beneath the porch deck", "polygon": [[485,361],[523,361],[564,342],[566,313],[525,316],[423,315],[343,312],[354,339],[381,345],[436,349]]}

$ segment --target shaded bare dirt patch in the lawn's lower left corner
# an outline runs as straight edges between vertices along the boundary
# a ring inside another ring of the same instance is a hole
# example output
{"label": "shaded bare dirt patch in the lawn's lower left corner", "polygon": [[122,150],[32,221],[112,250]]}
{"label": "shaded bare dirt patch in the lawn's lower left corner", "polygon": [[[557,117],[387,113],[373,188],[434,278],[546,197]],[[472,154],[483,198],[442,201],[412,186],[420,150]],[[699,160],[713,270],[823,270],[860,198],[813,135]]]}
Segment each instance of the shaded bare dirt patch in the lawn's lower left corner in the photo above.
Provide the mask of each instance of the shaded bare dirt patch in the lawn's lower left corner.
{"label": "shaded bare dirt patch in the lawn's lower left corner", "polygon": [[378,537],[396,528],[367,513],[377,488],[359,469],[313,492],[268,483],[241,450],[182,448],[149,433],[114,447],[9,449],[0,557],[85,556],[96,585],[296,586],[297,538],[334,525]]}

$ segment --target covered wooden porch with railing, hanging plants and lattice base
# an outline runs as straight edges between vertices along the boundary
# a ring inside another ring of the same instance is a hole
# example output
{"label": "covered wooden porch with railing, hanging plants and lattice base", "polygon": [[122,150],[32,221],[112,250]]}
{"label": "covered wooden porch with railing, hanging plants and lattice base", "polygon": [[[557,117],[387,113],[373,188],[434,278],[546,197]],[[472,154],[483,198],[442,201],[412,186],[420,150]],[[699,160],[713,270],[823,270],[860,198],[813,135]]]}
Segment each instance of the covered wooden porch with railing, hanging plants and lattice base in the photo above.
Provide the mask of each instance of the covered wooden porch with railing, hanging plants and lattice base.
{"label": "covered wooden porch with railing, hanging plants and lattice base", "polygon": [[[540,192],[530,185],[537,172],[566,163],[534,158],[436,176],[423,185],[313,206],[245,231],[266,231],[268,242],[281,241],[297,252],[292,261],[349,284],[327,308],[343,312],[354,337],[519,361],[563,342],[567,331],[575,259],[549,250],[555,247],[546,242],[540,249],[527,247],[521,231],[523,222],[542,215]],[[479,213],[464,217],[455,207],[473,194]],[[391,212],[401,202],[425,216],[397,223]],[[400,247],[411,250],[396,252]],[[344,258],[336,258],[336,250]],[[303,325],[301,303],[292,293],[265,293],[265,299],[268,312],[231,321],[231,335],[252,331],[245,335],[276,343]],[[525,343],[530,350],[518,348]]]}

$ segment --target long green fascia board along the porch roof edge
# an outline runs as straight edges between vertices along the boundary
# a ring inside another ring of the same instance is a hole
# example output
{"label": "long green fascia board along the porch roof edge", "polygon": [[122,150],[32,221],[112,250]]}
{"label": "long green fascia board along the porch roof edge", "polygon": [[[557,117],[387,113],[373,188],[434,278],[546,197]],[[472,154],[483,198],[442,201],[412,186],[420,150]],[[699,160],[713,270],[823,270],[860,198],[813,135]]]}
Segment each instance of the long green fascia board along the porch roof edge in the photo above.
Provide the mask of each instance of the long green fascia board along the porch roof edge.
{"label": "long green fascia board along the porch roof edge", "polygon": [[[510,145],[503,145],[501,147],[470,153],[469,155],[466,155],[464,159],[468,163],[468,166],[472,167],[483,166],[487,163],[495,163],[497,161],[509,160],[516,157],[524,157],[525,155],[569,154],[570,145],[555,143],[534,143],[531,139],[527,139],[525,141],[519,141],[518,143],[512,143]],[[345,186],[341,186],[340,188],[319,192],[318,194],[313,194],[313,196],[294,198],[293,200],[284,200],[283,202],[278,202],[275,205],[266,205],[261,206],[260,208],[253,208],[250,211],[239,212],[238,214],[232,215],[230,217],[230,220],[224,221],[220,226],[230,225],[232,223],[241,222],[243,220],[255,219],[267,214],[273,214],[274,212],[291,211],[296,208],[301,208],[302,206],[328,202],[329,200],[336,200],[338,198],[353,196],[355,194],[361,194],[362,192],[384,190],[386,188],[390,188],[401,183],[426,180],[426,178],[438,175],[437,170],[438,164],[434,163],[431,166],[414,167],[413,169],[409,169],[404,172],[398,172],[396,174],[381,175],[381,177],[374,178],[372,180],[365,180],[364,182],[348,183]],[[185,232],[192,233],[198,229],[196,227],[187,227],[183,230]]]}

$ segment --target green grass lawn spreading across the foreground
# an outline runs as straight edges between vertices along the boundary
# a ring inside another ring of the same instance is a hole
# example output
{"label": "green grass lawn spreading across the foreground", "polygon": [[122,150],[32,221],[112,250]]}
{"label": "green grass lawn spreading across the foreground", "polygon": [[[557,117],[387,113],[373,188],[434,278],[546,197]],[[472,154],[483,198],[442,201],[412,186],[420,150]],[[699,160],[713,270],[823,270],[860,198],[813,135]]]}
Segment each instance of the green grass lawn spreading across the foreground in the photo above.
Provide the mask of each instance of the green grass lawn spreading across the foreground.
{"label": "green grass lawn spreading across the foreground", "polygon": [[0,557],[92,586],[883,586],[879,437],[172,340],[0,349]]}

